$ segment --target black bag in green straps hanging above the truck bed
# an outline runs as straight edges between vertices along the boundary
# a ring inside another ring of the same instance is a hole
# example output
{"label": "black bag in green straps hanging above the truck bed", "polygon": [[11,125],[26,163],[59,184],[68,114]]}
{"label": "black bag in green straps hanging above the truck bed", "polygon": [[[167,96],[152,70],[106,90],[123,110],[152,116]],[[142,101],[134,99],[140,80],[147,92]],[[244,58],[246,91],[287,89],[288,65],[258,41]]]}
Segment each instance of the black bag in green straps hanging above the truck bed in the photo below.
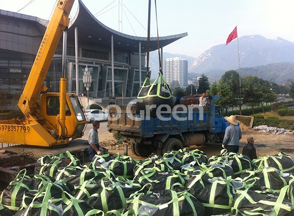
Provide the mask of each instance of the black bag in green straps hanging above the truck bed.
{"label": "black bag in green straps hanging above the truck bed", "polygon": [[[171,90],[161,73],[152,84],[150,84],[150,79],[148,77],[145,78],[137,98],[142,99],[141,102],[136,103],[137,114],[143,112],[149,115],[149,107],[146,106],[150,106],[151,116],[156,115],[156,110],[160,105],[158,112],[166,112],[169,110],[171,112],[174,106]],[[167,108],[168,106],[170,109]]]}

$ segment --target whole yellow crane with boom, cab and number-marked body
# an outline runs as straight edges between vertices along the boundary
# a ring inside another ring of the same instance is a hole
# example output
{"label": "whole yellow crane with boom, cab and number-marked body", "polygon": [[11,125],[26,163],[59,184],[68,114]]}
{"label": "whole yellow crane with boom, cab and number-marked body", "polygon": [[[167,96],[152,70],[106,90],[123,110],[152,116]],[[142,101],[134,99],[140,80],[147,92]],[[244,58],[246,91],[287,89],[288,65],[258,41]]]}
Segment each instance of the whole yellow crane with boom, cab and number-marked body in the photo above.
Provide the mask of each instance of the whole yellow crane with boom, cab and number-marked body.
{"label": "whole yellow crane with boom, cab and number-marked body", "polygon": [[0,121],[0,142],[50,147],[83,136],[87,121],[78,96],[66,93],[66,78],[60,79],[57,93],[46,93],[43,86],[74,2],[58,1],[18,101],[25,119]]}

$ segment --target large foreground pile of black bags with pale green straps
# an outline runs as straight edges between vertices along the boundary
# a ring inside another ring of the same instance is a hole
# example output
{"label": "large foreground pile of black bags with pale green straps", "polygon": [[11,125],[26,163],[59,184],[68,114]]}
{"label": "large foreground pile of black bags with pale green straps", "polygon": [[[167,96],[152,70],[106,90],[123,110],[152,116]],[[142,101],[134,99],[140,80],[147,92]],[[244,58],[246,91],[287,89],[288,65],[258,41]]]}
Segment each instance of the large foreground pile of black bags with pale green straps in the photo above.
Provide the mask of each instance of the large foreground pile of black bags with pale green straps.
{"label": "large foreground pile of black bags with pale green straps", "polygon": [[135,161],[69,152],[21,170],[0,197],[0,215],[294,215],[294,161],[186,149]]}

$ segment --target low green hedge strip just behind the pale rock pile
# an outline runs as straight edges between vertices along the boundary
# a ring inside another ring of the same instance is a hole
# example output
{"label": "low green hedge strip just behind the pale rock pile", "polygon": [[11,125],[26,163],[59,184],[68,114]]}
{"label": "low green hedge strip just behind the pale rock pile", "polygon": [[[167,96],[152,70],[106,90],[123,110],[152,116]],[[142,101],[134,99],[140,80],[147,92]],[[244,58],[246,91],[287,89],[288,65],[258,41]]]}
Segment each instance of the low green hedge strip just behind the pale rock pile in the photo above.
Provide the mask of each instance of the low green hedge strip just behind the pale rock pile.
{"label": "low green hedge strip just behind the pale rock pile", "polygon": [[286,119],[254,119],[253,127],[259,125],[267,125],[269,127],[284,128],[294,130],[294,120]]}

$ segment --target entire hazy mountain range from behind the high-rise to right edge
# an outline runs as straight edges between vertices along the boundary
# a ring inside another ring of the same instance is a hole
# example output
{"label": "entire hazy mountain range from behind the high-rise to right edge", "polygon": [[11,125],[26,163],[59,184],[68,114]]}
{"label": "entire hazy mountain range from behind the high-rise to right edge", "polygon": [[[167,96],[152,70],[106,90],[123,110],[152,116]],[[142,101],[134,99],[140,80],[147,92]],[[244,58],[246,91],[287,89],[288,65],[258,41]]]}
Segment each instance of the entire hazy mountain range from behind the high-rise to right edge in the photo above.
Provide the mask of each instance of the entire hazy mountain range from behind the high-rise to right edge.
{"label": "entire hazy mountain range from behind the high-rise to right edge", "polygon": [[[293,80],[294,43],[279,37],[271,40],[261,35],[246,35],[238,40],[242,77],[250,74],[277,84]],[[163,60],[173,57],[188,60],[189,77],[193,78],[205,74],[209,78],[219,79],[227,70],[239,72],[236,39],[228,45],[213,46],[196,59],[182,54],[163,53]],[[150,53],[149,62],[154,79],[159,70],[158,51]]]}

